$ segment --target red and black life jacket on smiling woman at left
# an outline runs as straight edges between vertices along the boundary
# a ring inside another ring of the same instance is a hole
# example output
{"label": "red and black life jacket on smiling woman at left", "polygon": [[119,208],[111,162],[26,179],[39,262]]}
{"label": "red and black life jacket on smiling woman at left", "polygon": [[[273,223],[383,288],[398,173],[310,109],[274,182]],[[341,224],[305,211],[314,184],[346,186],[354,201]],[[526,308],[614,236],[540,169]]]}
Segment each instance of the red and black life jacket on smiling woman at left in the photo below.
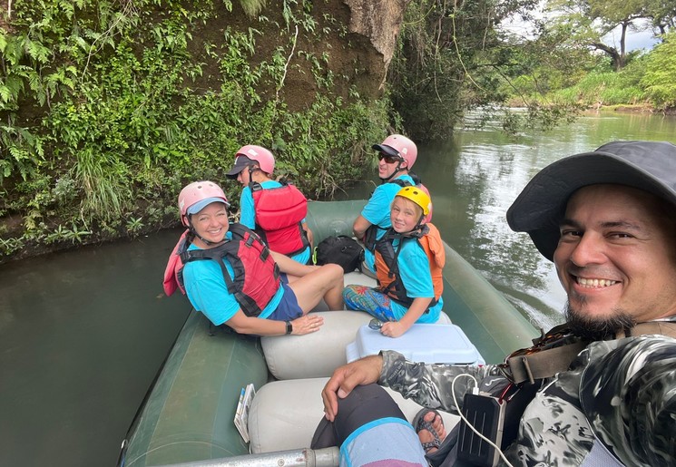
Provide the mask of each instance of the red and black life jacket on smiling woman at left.
{"label": "red and black life jacket on smiling woman at left", "polygon": [[[185,294],[183,266],[190,261],[211,259],[219,263],[228,292],[240,304],[247,316],[259,316],[279,289],[279,266],[269,249],[256,233],[241,224],[230,224],[232,239],[209,249],[191,249],[189,230],[183,232],[171,252],[164,270],[164,292],[173,294],[177,288]],[[225,267],[228,259],[234,278]]]}

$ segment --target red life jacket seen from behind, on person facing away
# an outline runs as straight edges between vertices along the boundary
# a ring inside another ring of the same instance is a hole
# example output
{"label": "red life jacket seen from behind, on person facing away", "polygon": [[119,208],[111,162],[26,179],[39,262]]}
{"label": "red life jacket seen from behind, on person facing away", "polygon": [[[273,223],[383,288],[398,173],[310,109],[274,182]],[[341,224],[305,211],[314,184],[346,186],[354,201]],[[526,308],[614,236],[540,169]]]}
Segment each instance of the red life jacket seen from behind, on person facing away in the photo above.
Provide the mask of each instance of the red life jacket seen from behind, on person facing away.
{"label": "red life jacket seen from behind, on person facing away", "polygon": [[253,209],[256,211],[256,233],[272,251],[293,256],[309,247],[302,226],[308,215],[308,200],[295,186],[281,181],[281,187],[263,189],[250,183]]}

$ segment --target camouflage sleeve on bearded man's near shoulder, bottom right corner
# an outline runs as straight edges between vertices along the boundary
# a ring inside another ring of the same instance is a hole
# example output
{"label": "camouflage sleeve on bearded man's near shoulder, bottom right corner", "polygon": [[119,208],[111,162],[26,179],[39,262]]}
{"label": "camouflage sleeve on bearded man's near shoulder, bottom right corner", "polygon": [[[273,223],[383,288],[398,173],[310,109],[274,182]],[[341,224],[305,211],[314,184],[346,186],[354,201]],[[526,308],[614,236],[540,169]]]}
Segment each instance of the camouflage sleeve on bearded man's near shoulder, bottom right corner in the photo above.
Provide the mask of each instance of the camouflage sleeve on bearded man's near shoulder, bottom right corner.
{"label": "camouflage sleeve on bearded man's near shoulder, bottom right corner", "polygon": [[583,411],[625,465],[676,465],[676,339],[620,342],[584,372]]}

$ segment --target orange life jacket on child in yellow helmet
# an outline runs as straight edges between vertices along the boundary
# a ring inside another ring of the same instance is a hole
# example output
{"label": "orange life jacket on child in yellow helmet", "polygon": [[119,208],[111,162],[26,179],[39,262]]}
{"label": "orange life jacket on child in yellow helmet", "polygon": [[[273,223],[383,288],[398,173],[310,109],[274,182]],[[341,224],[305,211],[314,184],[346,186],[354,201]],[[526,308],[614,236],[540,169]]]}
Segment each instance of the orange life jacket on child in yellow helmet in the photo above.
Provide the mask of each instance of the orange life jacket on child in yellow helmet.
{"label": "orange life jacket on child in yellow helmet", "polygon": [[[393,246],[396,238],[399,238],[397,250]],[[435,306],[444,292],[443,268],[446,264],[446,251],[439,230],[433,224],[423,224],[419,233],[414,237],[402,237],[394,229],[389,229],[385,236],[377,241],[374,253],[380,291],[405,306],[411,306],[413,303],[413,298],[407,296],[407,289],[399,276],[397,263],[399,251],[405,241],[417,241],[425,250],[435,291],[435,297],[428,308]]]}

